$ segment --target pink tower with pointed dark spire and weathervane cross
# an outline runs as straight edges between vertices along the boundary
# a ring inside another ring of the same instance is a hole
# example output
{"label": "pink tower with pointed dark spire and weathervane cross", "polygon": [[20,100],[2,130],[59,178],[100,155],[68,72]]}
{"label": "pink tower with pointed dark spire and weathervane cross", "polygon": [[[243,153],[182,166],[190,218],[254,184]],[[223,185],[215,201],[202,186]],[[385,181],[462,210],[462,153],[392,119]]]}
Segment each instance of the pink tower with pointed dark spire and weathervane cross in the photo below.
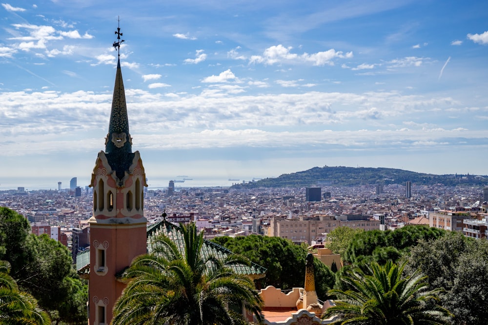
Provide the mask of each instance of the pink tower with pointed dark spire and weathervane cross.
{"label": "pink tower with pointed dark spire and weathervane cross", "polygon": [[115,34],[118,41],[113,45],[119,51],[119,59],[110,123],[105,151],[98,154],[90,183],[90,325],[110,324],[113,306],[125,287],[117,276],[136,256],[146,253],[143,187],[147,184],[139,152],[132,152],[120,64],[120,28]]}

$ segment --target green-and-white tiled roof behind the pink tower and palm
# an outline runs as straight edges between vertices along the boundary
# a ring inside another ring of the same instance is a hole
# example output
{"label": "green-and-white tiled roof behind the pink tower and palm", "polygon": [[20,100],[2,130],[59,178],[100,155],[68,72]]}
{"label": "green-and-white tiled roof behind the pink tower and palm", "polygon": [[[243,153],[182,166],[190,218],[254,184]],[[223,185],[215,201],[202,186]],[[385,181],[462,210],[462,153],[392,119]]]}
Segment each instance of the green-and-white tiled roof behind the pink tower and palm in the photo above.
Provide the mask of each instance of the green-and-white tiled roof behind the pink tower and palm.
{"label": "green-and-white tiled roof behind the pink tower and palm", "polygon": [[[149,253],[152,251],[154,238],[161,234],[175,242],[180,252],[184,254],[183,234],[181,233],[180,228],[165,220],[147,226],[147,251]],[[213,255],[219,259],[224,259],[227,255],[233,254],[229,249],[226,249],[223,246],[206,239],[203,240],[202,253],[204,258]],[[78,270],[78,274],[89,273],[90,268],[87,268],[89,265],[89,249],[86,249],[76,255],[76,268]],[[256,275],[258,278],[264,277],[266,273],[265,268],[255,263],[251,263],[250,266],[234,265],[232,268],[238,274]]]}

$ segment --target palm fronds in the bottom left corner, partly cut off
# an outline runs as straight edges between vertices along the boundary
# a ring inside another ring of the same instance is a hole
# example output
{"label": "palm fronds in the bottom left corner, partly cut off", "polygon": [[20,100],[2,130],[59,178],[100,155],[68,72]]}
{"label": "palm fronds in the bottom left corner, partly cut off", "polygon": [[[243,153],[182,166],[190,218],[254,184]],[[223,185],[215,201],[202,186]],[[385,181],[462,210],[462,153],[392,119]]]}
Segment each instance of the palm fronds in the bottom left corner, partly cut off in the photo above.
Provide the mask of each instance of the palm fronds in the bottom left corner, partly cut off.
{"label": "palm fronds in the bottom left corner, partly cut off", "polygon": [[48,314],[33,296],[19,290],[9,272],[10,264],[0,261],[0,324],[50,325]]}

